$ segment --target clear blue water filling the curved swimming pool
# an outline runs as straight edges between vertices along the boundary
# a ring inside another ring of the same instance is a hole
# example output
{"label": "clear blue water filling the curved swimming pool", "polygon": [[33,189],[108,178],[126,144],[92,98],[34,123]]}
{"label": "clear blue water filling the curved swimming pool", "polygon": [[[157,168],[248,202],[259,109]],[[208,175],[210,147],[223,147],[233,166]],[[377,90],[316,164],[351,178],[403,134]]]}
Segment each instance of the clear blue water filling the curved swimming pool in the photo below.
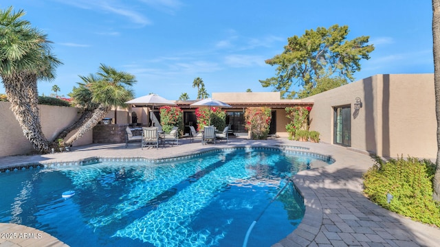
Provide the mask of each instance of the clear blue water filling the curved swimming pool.
{"label": "clear blue water filling the curved swimming pool", "polygon": [[[0,222],[38,228],[70,246],[270,246],[304,215],[289,178],[328,164],[241,149],[6,172]],[[65,191],[75,194],[63,198]]]}

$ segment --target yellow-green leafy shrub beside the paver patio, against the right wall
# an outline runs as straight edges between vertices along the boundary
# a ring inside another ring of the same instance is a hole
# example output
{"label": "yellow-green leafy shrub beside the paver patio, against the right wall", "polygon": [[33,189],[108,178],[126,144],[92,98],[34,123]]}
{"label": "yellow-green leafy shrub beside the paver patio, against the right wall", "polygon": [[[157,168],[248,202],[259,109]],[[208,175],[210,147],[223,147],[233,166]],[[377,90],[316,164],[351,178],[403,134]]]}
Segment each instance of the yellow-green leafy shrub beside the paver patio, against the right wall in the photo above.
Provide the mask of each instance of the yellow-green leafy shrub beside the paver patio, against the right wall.
{"label": "yellow-green leafy shrub beside the paver patio, against the right wall", "polygon": [[[432,200],[435,164],[429,160],[399,157],[375,164],[364,174],[364,192],[390,211],[427,224],[440,226],[440,205]],[[393,199],[388,203],[388,193]]]}

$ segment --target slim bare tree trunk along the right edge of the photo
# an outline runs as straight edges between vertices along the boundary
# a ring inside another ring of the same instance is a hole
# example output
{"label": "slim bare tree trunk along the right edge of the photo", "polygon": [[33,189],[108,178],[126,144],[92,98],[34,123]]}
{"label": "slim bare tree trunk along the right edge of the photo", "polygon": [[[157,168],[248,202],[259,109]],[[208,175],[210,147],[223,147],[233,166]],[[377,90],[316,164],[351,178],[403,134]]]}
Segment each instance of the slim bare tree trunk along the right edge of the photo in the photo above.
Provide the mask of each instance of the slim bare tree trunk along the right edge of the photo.
{"label": "slim bare tree trunk along the right edge of the photo", "polygon": [[432,40],[434,54],[435,113],[437,115],[437,160],[432,198],[440,201],[440,0],[432,0]]}

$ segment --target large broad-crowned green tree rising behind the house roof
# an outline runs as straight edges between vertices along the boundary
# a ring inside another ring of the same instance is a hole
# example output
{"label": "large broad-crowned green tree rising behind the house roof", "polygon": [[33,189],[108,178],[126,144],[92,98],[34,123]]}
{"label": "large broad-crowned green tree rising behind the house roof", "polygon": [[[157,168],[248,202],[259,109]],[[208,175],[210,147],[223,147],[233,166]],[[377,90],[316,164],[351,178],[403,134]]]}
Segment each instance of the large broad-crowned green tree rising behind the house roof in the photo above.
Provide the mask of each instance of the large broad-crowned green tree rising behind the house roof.
{"label": "large broad-crowned green tree rising behind the house roof", "polygon": [[369,36],[347,40],[348,34],[348,26],[333,25],[329,29],[306,30],[301,37],[287,38],[283,53],[265,60],[277,66],[276,77],[260,80],[261,85],[274,86],[281,97],[292,99],[297,93],[292,90],[293,85],[313,91],[322,78],[353,81],[353,73],[361,69],[360,60],[368,60],[374,47],[367,45]]}

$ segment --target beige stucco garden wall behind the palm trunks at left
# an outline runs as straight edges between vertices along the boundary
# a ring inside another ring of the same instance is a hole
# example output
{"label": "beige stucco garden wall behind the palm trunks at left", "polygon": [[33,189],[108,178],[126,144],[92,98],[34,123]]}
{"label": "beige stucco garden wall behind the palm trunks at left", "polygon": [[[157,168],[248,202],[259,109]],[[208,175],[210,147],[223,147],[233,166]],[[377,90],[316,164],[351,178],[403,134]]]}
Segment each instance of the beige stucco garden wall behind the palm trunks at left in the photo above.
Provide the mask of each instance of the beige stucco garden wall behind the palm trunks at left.
{"label": "beige stucco garden wall behind the palm trunks at left", "polygon": [[[41,128],[47,139],[53,139],[58,132],[79,117],[78,108],[46,105],[39,105],[39,108]],[[0,139],[3,140],[0,144],[0,156],[27,154],[34,151],[32,145],[23,136],[23,130],[10,110],[9,102],[0,102],[0,119]],[[92,142],[92,132],[89,131],[78,139],[74,146]]]}

